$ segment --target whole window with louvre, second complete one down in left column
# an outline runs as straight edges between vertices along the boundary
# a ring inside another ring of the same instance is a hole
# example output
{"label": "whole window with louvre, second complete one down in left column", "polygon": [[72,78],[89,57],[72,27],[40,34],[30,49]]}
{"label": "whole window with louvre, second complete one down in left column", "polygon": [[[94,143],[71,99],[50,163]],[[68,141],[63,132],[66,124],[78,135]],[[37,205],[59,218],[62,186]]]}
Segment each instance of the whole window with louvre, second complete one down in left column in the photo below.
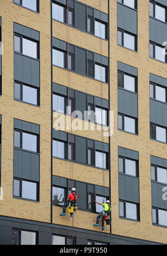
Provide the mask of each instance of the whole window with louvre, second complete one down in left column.
{"label": "whole window with louvre, second complete one down in left column", "polygon": [[39,89],[19,82],[14,82],[14,99],[39,106]]}

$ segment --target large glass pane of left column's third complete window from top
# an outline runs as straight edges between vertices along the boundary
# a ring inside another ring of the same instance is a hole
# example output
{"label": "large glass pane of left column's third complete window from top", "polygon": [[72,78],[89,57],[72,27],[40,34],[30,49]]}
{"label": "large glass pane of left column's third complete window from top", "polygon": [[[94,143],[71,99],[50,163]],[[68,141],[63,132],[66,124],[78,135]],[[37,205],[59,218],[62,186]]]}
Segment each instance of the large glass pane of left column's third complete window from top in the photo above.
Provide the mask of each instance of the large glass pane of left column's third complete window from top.
{"label": "large glass pane of left column's third complete window from top", "polygon": [[37,135],[22,133],[22,148],[37,152]]}

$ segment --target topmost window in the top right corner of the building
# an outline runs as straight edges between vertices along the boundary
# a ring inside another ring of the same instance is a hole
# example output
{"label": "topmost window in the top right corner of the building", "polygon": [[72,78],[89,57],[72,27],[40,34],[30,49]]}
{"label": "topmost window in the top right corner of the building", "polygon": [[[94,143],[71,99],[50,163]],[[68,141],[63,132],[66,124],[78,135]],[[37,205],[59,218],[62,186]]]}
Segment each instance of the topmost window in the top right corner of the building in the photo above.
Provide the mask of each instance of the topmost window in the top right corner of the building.
{"label": "topmost window in the top right corner of the building", "polygon": [[166,22],[166,8],[150,1],[150,16]]}

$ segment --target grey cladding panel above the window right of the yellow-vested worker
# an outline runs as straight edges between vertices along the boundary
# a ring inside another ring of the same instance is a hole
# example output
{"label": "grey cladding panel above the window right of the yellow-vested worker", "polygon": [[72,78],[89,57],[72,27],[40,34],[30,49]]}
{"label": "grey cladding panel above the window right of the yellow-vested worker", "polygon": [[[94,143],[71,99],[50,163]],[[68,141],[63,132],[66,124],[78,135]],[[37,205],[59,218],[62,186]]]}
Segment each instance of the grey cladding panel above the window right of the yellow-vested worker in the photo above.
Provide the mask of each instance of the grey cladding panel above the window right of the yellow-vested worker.
{"label": "grey cladding panel above the window right of the yellow-vested worker", "polygon": [[119,174],[119,198],[139,203],[139,179]]}

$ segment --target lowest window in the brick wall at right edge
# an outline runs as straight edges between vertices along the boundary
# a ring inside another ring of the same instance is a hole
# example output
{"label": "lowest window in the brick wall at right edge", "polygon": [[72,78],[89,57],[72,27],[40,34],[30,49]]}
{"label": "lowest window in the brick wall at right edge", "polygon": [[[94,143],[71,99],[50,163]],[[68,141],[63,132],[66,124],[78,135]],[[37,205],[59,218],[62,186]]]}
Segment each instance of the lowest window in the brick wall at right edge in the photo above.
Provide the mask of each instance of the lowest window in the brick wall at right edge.
{"label": "lowest window in the brick wall at right edge", "polygon": [[152,208],[153,224],[167,226],[167,211],[159,208]]}

